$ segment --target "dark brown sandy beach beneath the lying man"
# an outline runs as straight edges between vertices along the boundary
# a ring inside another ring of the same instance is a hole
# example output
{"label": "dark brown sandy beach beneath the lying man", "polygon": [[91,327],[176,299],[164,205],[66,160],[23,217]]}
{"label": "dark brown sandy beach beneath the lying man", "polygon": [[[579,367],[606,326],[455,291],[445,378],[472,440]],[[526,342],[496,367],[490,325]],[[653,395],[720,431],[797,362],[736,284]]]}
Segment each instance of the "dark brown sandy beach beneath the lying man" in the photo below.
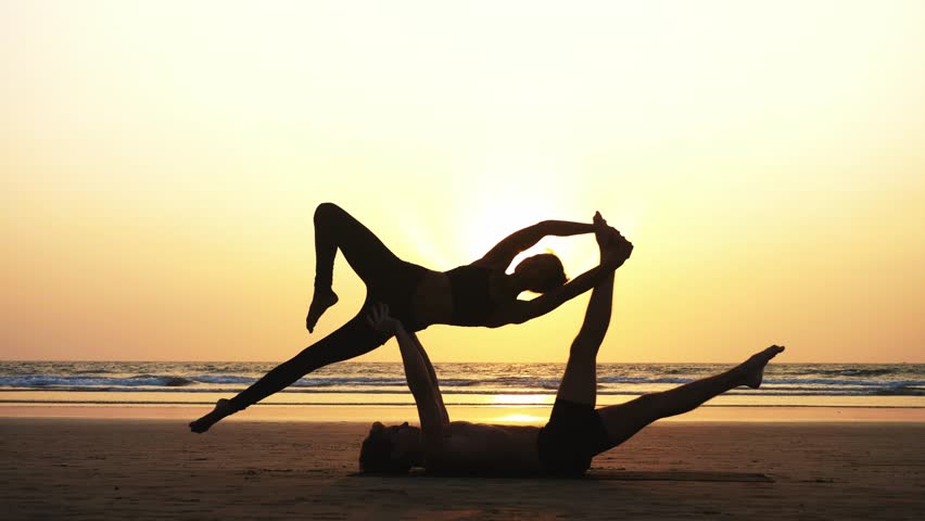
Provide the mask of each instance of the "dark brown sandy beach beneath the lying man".
{"label": "dark brown sandy beach beneath the lying man", "polygon": [[579,480],[360,476],[366,422],[0,418],[4,519],[925,519],[925,423],[663,422]]}

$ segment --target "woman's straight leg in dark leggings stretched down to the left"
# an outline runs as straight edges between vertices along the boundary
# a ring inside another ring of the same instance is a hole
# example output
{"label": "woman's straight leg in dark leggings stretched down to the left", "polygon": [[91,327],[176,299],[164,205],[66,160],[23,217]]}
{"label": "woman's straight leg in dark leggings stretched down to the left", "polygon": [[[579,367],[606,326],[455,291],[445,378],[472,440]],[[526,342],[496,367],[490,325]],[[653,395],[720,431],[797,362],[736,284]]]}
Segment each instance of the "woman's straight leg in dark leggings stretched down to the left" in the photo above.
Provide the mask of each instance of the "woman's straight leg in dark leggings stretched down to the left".
{"label": "woman's straight leg in dark leggings stretched down to the left", "polygon": [[387,340],[388,336],[366,322],[362,310],[340,329],[306,347],[289,361],[280,364],[233,398],[218,401],[215,410],[190,423],[190,430],[205,432],[226,416],[288,387],[315,369],[369,353]]}

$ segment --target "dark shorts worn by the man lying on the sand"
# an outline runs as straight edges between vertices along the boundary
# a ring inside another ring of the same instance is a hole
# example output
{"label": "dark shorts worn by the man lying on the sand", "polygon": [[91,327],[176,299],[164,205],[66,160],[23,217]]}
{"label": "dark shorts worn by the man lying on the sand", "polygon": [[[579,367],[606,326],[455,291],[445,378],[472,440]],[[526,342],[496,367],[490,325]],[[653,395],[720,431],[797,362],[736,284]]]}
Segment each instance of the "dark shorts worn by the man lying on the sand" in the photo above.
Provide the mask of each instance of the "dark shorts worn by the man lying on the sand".
{"label": "dark shorts worn by the man lying on the sand", "polygon": [[591,459],[612,447],[600,416],[591,404],[556,399],[546,427],[540,430],[536,452],[546,472],[581,475]]}

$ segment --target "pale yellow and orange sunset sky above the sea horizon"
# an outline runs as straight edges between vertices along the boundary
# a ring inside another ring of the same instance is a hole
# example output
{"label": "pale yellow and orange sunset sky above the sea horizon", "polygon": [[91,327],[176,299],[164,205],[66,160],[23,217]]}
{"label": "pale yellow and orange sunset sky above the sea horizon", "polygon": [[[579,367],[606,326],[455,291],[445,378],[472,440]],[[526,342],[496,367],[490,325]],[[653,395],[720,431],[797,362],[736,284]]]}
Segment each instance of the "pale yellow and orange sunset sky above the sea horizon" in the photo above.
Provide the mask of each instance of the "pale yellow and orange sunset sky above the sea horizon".
{"label": "pale yellow and orange sunset sky above the sea horizon", "polygon": [[[600,211],[600,361],[925,363],[925,3],[0,0],[0,359],[283,360],[332,201],[445,270]],[[591,236],[547,239],[570,276]],[[565,361],[586,295],[435,326]],[[394,341],[359,360],[398,360]]]}

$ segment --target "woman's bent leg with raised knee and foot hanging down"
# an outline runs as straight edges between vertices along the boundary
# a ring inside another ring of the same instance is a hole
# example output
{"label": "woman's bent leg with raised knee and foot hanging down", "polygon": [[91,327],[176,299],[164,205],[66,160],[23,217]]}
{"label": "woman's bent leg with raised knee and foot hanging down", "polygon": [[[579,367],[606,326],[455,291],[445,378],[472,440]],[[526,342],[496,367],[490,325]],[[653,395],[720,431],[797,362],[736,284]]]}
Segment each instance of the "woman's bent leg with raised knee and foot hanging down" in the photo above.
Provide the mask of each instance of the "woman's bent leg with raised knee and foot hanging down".
{"label": "woman's bent leg with raised knee and foot hanging down", "polygon": [[333,203],[315,209],[315,293],[305,327],[309,332],[325,312],[338,303],[331,288],[338,249],[356,275],[370,285],[385,278],[402,260],[375,233]]}

